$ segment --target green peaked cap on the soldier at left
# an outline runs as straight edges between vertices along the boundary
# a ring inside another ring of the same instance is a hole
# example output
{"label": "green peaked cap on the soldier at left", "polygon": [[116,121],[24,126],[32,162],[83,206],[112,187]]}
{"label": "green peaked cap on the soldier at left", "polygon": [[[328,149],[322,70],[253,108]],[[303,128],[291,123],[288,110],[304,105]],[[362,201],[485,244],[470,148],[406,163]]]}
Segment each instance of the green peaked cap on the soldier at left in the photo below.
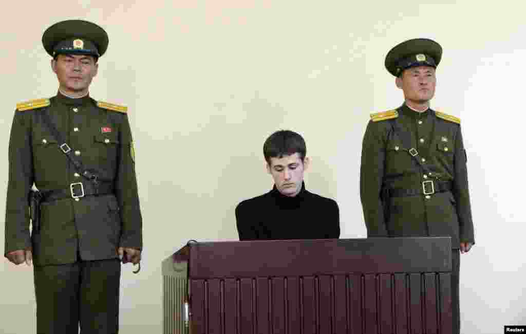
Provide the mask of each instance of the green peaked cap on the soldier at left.
{"label": "green peaked cap on the soldier at left", "polygon": [[95,23],[72,19],[55,23],[42,35],[46,52],[59,54],[102,56],[108,48],[108,34]]}

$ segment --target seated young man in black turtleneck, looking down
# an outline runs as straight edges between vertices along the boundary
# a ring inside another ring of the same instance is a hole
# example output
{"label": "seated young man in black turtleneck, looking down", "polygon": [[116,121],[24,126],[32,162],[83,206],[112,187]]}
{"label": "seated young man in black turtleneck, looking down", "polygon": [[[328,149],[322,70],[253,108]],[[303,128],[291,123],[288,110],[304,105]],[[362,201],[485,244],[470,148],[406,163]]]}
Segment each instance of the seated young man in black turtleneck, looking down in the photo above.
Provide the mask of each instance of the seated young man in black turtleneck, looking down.
{"label": "seated young man in black turtleneck, looking down", "polygon": [[303,178],[309,167],[305,140],[293,131],[276,131],[265,141],[263,154],[274,187],[236,207],[239,239],[338,238],[336,201],[305,189]]}

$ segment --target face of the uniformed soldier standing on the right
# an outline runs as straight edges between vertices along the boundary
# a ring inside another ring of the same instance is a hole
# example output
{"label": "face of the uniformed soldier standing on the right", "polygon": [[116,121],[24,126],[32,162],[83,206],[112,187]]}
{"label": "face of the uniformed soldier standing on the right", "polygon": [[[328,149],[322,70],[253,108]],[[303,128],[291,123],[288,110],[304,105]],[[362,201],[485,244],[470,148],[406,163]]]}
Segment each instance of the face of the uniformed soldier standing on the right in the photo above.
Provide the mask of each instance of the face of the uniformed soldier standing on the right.
{"label": "face of the uniformed soldier standing on the right", "polygon": [[435,70],[430,66],[411,67],[396,78],[396,85],[403,90],[406,100],[416,103],[428,102],[434,96],[437,85]]}

